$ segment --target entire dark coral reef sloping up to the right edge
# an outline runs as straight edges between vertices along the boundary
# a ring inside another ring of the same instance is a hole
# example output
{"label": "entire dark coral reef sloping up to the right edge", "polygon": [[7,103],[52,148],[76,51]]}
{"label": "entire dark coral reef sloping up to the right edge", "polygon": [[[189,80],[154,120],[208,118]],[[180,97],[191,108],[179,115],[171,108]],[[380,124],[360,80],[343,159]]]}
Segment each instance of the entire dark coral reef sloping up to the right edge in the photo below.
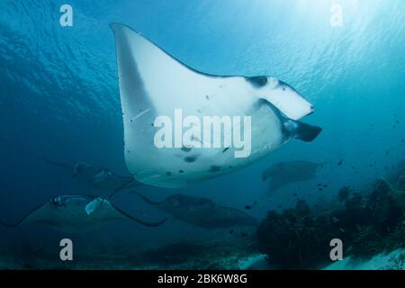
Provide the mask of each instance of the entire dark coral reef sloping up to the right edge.
{"label": "entire dark coral reef sloping up to the right edge", "polygon": [[294,209],[269,211],[257,229],[260,251],[278,268],[317,269],[330,264],[332,238],[342,239],[344,253],[354,258],[405,247],[403,175],[378,180],[369,194],[342,187],[327,211],[315,213],[303,200]]}

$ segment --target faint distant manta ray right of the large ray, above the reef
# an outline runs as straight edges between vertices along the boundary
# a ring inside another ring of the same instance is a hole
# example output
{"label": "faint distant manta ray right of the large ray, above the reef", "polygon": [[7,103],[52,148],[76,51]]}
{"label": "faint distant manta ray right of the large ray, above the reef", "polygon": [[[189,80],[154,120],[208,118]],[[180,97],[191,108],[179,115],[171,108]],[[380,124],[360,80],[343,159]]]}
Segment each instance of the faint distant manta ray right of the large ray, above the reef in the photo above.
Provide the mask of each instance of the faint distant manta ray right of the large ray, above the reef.
{"label": "faint distant manta ray right of the large ray, above the reef", "polygon": [[285,184],[313,179],[322,163],[308,161],[279,162],[263,172],[262,180],[270,178],[269,192],[274,193]]}

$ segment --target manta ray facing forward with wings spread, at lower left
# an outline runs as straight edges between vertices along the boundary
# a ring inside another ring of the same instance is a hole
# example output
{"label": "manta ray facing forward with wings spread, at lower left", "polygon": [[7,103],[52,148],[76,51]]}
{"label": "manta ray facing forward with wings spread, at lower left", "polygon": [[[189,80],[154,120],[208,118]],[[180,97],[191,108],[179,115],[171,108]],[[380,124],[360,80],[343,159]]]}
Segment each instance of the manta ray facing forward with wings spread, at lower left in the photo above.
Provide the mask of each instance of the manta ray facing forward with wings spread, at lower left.
{"label": "manta ray facing forward with wings spread, at lower left", "polygon": [[100,197],[61,195],[41,204],[14,224],[0,222],[0,225],[14,228],[21,224],[40,223],[64,232],[83,233],[100,229],[114,220],[133,220],[148,227],[157,227],[166,221],[139,220]]}

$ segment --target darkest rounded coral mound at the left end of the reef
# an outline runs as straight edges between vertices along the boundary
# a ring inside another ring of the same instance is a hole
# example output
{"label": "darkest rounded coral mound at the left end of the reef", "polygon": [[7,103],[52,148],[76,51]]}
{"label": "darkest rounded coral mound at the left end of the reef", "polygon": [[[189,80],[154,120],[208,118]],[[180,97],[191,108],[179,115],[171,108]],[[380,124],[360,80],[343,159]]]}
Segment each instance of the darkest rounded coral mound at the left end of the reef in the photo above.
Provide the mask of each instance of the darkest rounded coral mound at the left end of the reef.
{"label": "darkest rounded coral mound at the left end of the reef", "polygon": [[321,216],[318,220],[300,200],[294,209],[268,212],[257,229],[259,249],[277,268],[319,268],[329,261],[329,246],[324,244],[331,237],[330,224],[330,218]]}

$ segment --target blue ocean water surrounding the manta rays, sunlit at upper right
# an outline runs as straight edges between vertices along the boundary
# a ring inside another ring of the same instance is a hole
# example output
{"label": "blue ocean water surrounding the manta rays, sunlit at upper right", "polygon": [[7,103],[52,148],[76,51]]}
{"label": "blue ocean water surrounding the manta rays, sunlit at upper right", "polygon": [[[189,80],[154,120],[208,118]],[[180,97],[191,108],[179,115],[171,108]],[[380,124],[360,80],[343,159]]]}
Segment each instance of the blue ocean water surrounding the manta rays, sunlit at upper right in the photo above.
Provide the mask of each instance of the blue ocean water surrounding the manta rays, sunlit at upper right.
{"label": "blue ocean water surrounding the manta rays, sunlit at upper right", "polygon": [[[61,27],[65,1],[0,1],[0,218],[18,220],[58,194],[86,194],[44,157],[85,161],[128,175],[116,53],[110,23],[148,36],[191,67],[218,75],[270,75],[293,85],[315,106],[305,121],[323,128],[312,143],[292,142],[236,173],[167,191],[144,187],[154,199],[187,193],[243,209],[266,211],[333,199],[340,187],[363,189],[405,158],[405,2],[401,0],[69,0],[73,27]],[[330,7],[343,8],[332,26]],[[268,194],[261,174],[278,161],[325,166],[316,179]],[[338,165],[341,164],[341,165]],[[328,183],[318,191],[318,183]],[[93,193],[93,192],[92,192]],[[133,195],[122,209],[157,220]],[[223,232],[228,233],[228,230]],[[55,245],[64,234],[40,226],[0,229],[0,244]],[[218,233],[169,221],[157,229],[117,222],[74,239],[83,247],[152,247]]]}

